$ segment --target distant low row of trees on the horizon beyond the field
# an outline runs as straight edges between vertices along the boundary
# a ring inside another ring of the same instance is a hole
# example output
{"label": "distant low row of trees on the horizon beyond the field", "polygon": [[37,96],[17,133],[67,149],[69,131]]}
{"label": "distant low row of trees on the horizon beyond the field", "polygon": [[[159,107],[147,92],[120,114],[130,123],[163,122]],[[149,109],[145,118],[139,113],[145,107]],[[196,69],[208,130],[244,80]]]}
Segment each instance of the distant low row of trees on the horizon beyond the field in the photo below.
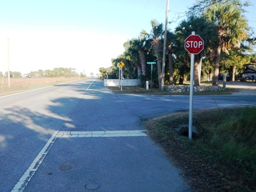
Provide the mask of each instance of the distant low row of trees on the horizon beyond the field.
{"label": "distant low row of trees on the horizon beyond the field", "polygon": [[[3,73],[0,72],[0,75],[3,76]],[[8,76],[8,72],[5,72],[5,77]],[[22,74],[18,71],[10,71],[11,78],[21,78],[23,77]],[[32,77],[86,77],[84,73],[78,74],[76,69],[74,68],[54,68],[53,70],[42,70],[39,69],[37,71],[31,71],[28,74],[25,74],[25,77],[32,78]]]}

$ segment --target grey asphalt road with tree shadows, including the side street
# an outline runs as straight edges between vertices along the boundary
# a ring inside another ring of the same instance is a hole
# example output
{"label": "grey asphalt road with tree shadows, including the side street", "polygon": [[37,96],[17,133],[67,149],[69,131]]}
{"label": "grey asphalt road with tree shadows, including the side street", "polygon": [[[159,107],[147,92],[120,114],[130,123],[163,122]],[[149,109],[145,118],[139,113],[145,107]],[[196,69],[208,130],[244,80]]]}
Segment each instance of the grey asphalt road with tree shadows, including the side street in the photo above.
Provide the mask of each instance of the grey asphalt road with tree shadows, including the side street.
{"label": "grey asphalt road with tree shadows, including the side street", "polygon": [[[194,97],[195,109],[247,105],[255,96]],[[188,108],[92,78],[1,97],[0,191],[190,191],[142,124]]]}

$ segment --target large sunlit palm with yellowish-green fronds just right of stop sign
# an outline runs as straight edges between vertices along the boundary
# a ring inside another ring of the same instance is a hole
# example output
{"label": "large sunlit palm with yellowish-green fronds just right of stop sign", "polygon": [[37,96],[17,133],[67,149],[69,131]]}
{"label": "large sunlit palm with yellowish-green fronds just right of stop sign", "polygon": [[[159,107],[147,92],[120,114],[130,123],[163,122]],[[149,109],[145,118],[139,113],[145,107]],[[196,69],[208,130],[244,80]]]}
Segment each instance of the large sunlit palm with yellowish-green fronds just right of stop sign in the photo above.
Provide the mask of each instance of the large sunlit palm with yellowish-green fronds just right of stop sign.
{"label": "large sunlit palm with yellowish-green fronds just right of stop sign", "polygon": [[218,33],[212,85],[219,85],[221,51],[228,53],[231,49],[239,47],[241,42],[248,37],[248,27],[242,10],[231,3],[216,3],[206,10],[204,16],[214,24]]}

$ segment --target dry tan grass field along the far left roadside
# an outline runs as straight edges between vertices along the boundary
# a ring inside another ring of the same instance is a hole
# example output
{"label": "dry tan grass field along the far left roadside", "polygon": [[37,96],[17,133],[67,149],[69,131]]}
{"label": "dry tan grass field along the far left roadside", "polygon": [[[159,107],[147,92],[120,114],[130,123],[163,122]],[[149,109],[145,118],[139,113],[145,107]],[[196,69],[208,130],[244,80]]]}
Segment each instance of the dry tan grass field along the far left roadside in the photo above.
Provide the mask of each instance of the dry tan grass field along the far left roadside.
{"label": "dry tan grass field along the far left roadside", "polygon": [[10,87],[9,87],[7,78],[2,78],[1,87],[0,87],[0,96],[19,93],[23,91],[30,91],[30,90],[39,89],[46,86],[75,81],[76,79],[79,79],[79,78],[78,77],[10,78]]}

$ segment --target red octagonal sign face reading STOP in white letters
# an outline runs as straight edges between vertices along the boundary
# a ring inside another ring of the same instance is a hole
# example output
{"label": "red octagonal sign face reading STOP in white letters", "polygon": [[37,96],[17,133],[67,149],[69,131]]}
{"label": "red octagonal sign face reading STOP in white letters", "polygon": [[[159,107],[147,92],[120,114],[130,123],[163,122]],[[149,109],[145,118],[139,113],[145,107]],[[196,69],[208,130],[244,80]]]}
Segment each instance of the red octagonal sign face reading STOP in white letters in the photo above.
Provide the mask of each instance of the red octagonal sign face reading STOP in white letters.
{"label": "red octagonal sign face reading STOP in white letters", "polygon": [[204,49],[204,40],[199,35],[189,35],[185,39],[185,49],[191,54],[198,54]]}

